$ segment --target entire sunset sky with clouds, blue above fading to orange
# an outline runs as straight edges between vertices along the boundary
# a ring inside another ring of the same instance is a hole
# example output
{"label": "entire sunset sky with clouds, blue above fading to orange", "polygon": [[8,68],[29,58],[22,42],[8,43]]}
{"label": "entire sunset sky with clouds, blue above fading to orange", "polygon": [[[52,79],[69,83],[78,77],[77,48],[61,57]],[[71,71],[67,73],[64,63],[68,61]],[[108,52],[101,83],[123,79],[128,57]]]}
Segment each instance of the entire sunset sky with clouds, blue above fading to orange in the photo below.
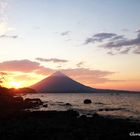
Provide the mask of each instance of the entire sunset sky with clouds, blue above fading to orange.
{"label": "entire sunset sky with clouds, blue above fading to orange", "polygon": [[4,86],[62,71],[94,88],[140,91],[139,0],[0,0]]}

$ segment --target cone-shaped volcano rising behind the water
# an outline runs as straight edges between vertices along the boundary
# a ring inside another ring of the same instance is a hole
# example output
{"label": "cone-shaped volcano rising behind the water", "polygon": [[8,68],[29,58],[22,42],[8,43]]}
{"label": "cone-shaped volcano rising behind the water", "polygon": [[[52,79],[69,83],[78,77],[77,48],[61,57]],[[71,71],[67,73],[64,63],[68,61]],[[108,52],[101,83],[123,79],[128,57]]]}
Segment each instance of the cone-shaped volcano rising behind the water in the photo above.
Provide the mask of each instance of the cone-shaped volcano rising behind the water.
{"label": "cone-shaped volcano rising behind the water", "polygon": [[74,81],[62,72],[55,72],[51,76],[31,86],[37,92],[46,93],[89,93],[96,89]]}

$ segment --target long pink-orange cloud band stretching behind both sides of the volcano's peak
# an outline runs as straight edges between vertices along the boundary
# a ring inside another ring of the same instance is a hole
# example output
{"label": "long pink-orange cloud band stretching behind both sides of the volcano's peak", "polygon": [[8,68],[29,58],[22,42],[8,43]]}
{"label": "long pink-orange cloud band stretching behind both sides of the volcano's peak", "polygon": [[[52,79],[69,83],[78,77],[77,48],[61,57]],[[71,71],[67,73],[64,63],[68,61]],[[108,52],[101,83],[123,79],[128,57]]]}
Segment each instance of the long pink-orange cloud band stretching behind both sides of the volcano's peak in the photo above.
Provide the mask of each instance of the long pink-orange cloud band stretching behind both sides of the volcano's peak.
{"label": "long pink-orange cloud band stretching behind both sides of the volcano's peak", "polygon": [[[45,77],[56,72],[58,69],[47,68],[41,66],[40,63],[38,62],[24,59],[24,60],[11,60],[1,62],[0,70],[3,72],[15,74],[17,72],[20,72],[19,74],[17,73],[18,75],[13,76],[17,80],[31,80],[30,78],[34,77],[33,73],[40,75],[41,77]],[[94,70],[88,68],[75,68],[75,69],[68,68],[59,70],[67,74],[68,76],[72,77],[73,79],[88,85],[115,81],[110,80],[108,78],[108,76],[115,73],[112,71]]]}

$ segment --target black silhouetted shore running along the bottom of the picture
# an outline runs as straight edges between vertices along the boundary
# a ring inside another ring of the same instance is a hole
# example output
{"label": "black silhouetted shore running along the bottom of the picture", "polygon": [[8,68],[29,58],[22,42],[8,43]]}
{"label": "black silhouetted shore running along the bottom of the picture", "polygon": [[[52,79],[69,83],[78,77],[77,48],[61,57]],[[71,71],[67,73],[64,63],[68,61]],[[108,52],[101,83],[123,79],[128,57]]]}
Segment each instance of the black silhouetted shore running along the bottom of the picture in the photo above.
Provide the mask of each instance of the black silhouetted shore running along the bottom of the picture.
{"label": "black silhouetted shore running along the bottom of the picture", "polygon": [[20,111],[0,116],[0,139],[99,140],[127,139],[139,132],[140,123],[123,119],[79,116],[69,111]]}

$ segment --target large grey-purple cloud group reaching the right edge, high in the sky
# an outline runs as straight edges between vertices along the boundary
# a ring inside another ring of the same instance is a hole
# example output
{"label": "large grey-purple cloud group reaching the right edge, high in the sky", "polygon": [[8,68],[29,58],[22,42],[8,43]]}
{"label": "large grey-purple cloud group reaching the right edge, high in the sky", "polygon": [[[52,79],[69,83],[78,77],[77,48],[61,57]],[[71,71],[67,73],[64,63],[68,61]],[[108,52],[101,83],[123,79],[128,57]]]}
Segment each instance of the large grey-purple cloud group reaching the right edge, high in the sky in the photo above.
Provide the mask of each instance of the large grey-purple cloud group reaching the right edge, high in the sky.
{"label": "large grey-purple cloud group reaching the right edge, high in the sky", "polygon": [[140,30],[137,30],[136,33],[137,36],[130,39],[115,33],[98,33],[92,38],[86,39],[85,44],[100,42],[99,47],[109,50],[107,53],[111,55],[128,54],[129,52],[140,54]]}

